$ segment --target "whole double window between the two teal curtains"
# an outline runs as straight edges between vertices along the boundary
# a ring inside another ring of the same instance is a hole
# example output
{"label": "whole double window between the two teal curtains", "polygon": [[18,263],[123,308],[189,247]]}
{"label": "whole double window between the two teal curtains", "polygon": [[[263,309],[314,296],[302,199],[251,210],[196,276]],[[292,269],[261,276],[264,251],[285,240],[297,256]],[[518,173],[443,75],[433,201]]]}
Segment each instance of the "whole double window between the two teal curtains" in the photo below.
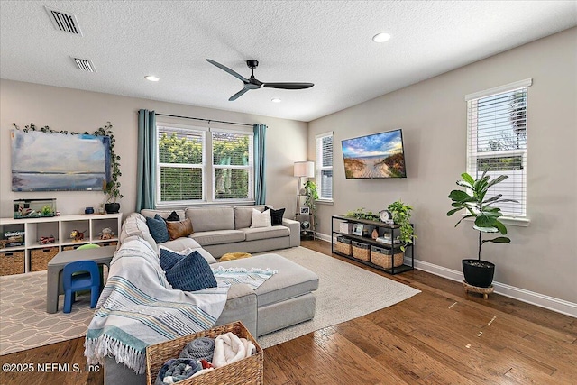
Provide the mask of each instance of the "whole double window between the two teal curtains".
{"label": "whole double window between the two teal curtains", "polygon": [[157,125],[157,205],[253,199],[252,132]]}

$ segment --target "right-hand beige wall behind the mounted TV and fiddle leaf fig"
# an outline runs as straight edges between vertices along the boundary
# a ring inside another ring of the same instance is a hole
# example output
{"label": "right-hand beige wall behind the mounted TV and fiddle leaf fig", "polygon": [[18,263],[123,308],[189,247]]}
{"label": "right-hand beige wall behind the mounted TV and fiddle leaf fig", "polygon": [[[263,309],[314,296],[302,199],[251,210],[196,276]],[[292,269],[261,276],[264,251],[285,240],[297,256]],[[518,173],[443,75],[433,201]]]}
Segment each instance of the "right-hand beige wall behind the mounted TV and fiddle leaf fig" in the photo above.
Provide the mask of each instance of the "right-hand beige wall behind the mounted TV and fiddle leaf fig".
{"label": "right-hand beige wall behind the mounted TV and fiddle leaf fig", "polygon": [[[461,270],[475,258],[477,233],[454,228],[448,194],[465,170],[466,104],[476,91],[533,78],[528,89],[528,227],[508,226],[512,243],[488,243],[483,259],[495,280],[577,303],[577,28],[417,83],[309,123],[315,135],[334,131],[334,205],[317,205],[320,232],[331,215],[358,207],[386,208],[400,198],[415,207],[416,257]],[[344,179],[341,140],[403,129],[408,179]]]}

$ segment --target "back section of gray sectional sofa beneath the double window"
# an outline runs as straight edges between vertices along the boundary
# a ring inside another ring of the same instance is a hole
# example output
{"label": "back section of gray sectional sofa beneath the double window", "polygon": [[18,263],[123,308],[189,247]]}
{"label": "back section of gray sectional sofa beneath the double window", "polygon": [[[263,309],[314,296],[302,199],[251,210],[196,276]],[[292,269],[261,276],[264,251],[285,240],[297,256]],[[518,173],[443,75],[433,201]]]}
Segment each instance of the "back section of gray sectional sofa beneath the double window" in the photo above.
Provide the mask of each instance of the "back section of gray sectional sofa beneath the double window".
{"label": "back section of gray sectional sofa beneath the double window", "polygon": [[[282,225],[251,228],[252,209],[263,211],[265,206],[210,206],[174,210],[179,218],[189,218],[194,233],[189,238],[197,241],[216,259],[226,252],[268,252],[300,245],[300,224],[282,219]],[[270,206],[268,206],[270,207]],[[142,210],[148,217],[168,218],[173,210]],[[182,240],[178,240],[180,242]],[[169,243],[160,243],[170,248]]]}

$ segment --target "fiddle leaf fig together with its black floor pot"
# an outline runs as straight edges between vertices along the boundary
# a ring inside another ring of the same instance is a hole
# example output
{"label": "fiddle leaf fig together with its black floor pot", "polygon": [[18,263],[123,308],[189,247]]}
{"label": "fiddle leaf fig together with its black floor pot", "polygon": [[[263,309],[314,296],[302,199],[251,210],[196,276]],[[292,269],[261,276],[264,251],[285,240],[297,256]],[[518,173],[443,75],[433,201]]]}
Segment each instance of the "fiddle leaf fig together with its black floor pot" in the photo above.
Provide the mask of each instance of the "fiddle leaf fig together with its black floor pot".
{"label": "fiddle leaf fig together with its black floor pot", "polygon": [[467,211],[467,214],[463,215],[459,222],[454,225],[455,227],[463,222],[463,219],[474,218],[472,228],[479,232],[477,259],[463,260],[463,275],[467,284],[479,288],[489,288],[495,274],[495,265],[490,261],[481,260],[481,246],[488,242],[511,243],[511,240],[506,236],[497,236],[492,239],[482,239],[481,237],[483,233],[507,234],[507,227],[499,221],[499,217],[503,214],[500,208],[494,205],[503,202],[518,203],[517,200],[513,199],[501,199],[502,194],[494,197],[485,197],[490,187],[508,178],[507,175],[500,175],[490,180],[487,171],[485,170],[481,178],[476,180],[466,172],[461,174],[463,180],[457,180],[457,185],[467,188],[467,191],[451,191],[449,198],[453,201],[452,206],[454,208],[447,213],[447,216],[451,216],[463,209]]}

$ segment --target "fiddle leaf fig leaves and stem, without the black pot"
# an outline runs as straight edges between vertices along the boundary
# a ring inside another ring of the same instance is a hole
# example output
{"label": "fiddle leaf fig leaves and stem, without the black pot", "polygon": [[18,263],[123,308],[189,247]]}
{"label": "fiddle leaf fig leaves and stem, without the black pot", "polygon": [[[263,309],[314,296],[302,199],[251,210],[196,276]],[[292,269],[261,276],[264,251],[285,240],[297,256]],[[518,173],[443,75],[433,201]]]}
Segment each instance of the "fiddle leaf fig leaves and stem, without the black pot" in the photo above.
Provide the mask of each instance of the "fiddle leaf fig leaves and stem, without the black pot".
{"label": "fiddle leaf fig leaves and stem, without the black pot", "polygon": [[481,246],[484,243],[511,243],[511,240],[506,236],[497,236],[495,238],[484,240],[481,239],[481,234],[483,233],[507,234],[507,227],[499,221],[499,217],[503,216],[501,209],[493,205],[504,202],[518,203],[518,201],[514,199],[501,199],[501,197],[503,197],[502,194],[498,194],[494,197],[486,197],[489,188],[505,179],[508,179],[507,175],[500,175],[499,177],[490,180],[490,175],[487,175],[487,171],[488,170],[485,170],[479,179],[473,179],[472,176],[466,172],[461,174],[463,180],[457,180],[457,185],[466,188],[467,190],[451,191],[449,198],[453,201],[451,206],[454,208],[447,212],[447,216],[451,216],[463,209],[466,211],[467,214],[463,215],[456,225],[454,225],[455,227],[463,222],[464,219],[474,218],[475,222],[472,228],[479,232],[479,261],[481,261]]}

